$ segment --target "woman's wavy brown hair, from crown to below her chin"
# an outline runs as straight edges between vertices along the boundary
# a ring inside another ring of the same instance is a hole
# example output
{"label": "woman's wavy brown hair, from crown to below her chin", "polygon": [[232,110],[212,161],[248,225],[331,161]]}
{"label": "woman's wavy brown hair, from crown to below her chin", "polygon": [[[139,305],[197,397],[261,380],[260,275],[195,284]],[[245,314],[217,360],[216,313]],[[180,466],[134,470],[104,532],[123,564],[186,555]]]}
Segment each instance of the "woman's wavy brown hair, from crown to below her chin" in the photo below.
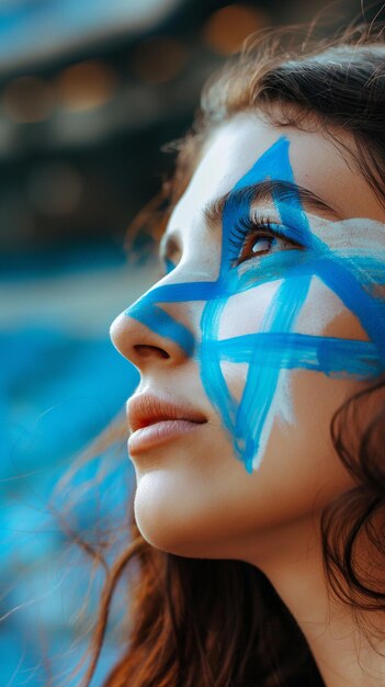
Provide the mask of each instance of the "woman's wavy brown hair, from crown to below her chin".
{"label": "woman's wavy brown hair, from crown to below her chin", "polygon": [[[344,148],[385,207],[385,46],[383,26],[353,26],[332,40],[303,31],[262,32],[203,90],[193,127],[178,142],[166,192],[173,204],[207,136],[238,113],[272,124],[321,126]],[[298,47],[299,46],[299,47]],[[343,143],[348,139],[351,144]],[[354,487],[321,516],[325,573],[332,593],[358,611],[383,611],[384,380],[350,398],[331,421],[336,453]],[[322,685],[295,620],[256,567],[234,560],[184,559],[151,547],[131,509],[131,542],[110,570],[90,645],[89,685],[103,645],[111,599],[134,563],[126,635],[104,687],[306,687]],[[371,547],[371,571],[355,558]],[[131,567],[131,566],[129,566]],[[378,572],[380,571],[380,572]],[[377,572],[377,574],[376,574]]]}

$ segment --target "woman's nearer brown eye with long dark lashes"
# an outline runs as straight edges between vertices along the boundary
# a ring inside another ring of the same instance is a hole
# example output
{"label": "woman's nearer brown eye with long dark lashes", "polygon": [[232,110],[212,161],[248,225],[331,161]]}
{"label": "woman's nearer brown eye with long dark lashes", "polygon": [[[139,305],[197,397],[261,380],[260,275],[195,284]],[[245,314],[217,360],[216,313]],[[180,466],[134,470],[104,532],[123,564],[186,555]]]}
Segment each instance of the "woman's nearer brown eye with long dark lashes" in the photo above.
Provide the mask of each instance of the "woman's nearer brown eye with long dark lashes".
{"label": "woman's nearer brown eye with long dark lashes", "polygon": [[233,266],[272,252],[301,248],[284,235],[283,227],[262,217],[241,217],[229,240],[236,248]]}

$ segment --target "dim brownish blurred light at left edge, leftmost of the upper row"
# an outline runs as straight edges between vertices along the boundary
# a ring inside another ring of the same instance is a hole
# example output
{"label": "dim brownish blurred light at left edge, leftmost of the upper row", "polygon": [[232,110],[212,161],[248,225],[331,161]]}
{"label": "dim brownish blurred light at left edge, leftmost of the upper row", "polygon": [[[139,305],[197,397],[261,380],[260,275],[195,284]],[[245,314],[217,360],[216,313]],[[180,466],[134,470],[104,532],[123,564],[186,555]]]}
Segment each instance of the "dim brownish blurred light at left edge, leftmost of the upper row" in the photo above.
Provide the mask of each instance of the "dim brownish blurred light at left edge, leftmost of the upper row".
{"label": "dim brownish blurred light at left edge, leftmost of the upper row", "polygon": [[3,105],[7,114],[20,124],[42,122],[54,110],[54,89],[41,78],[19,77],[5,87]]}

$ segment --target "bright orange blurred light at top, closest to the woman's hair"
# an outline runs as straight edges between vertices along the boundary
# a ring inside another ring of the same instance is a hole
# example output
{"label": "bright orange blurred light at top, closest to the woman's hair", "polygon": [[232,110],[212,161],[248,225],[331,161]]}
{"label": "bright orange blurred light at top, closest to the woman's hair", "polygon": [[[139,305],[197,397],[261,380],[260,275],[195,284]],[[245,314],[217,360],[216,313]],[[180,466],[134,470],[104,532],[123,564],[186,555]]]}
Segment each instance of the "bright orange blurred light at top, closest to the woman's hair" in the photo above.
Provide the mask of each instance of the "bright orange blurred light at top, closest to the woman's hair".
{"label": "bright orange blurred light at top, closest to the woman's hair", "polygon": [[238,53],[244,41],[269,24],[267,12],[247,4],[228,4],[214,12],[202,31],[204,43],[218,55]]}

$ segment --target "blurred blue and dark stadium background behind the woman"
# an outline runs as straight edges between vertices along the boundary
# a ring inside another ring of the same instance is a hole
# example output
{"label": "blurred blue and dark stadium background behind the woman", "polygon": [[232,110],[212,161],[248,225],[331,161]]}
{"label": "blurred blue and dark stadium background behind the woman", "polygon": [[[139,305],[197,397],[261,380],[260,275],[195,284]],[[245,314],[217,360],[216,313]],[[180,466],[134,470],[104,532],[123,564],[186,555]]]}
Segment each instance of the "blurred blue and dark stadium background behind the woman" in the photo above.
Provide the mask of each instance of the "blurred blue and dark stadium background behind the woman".
{"label": "blurred blue and dark stadium background behind the woman", "polygon": [[[362,14],[360,0],[0,0],[1,687],[59,685],[84,651],[90,571],[47,502],[138,381],[107,331],[159,272],[146,232],[124,243],[171,170],[161,147],[248,34],[320,10],[329,32]],[[134,484],[111,460],[102,486],[87,486],[95,461],[78,476],[86,531],[95,504],[118,519]],[[112,632],[95,687],[116,652]]]}

